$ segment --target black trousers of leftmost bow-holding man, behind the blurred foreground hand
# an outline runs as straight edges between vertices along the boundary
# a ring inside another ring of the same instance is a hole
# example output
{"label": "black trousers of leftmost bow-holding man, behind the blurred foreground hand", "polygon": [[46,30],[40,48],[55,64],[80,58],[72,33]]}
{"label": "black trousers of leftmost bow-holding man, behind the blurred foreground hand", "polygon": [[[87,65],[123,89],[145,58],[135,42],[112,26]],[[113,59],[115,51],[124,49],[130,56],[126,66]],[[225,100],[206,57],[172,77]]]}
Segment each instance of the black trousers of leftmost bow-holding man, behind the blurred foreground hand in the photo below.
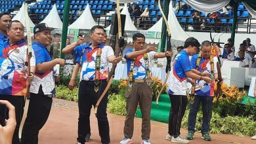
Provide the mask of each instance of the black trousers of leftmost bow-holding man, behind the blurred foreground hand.
{"label": "black trousers of leftmost bow-holding man, behind the blurred foreground hand", "polygon": [[[23,107],[24,107],[24,96],[11,96],[11,95],[1,95],[1,100],[7,100],[15,107],[15,115],[16,115],[16,128],[12,137],[12,144],[19,144],[20,141],[18,139],[18,128],[20,127],[20,121],[23,115]],[[0,109],[1,111],[1,109]],[[9,118],[9,111],[7,109],[6,113],[7,119]]]}

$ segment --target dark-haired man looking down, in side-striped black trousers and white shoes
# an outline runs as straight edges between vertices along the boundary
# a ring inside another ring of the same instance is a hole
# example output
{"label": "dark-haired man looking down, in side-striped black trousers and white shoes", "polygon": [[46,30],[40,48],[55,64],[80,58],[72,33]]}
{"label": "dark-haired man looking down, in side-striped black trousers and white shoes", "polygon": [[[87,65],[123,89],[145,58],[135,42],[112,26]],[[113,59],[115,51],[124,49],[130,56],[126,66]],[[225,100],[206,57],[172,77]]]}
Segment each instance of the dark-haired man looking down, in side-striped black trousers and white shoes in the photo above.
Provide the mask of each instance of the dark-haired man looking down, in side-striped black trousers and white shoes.
{"label": "dark-haired man looking down, in side-striped black trousers and white shoes", "polygon": [[170,72],[169,98],[171,101],[171,109],[169,115],[169,132],[165,139],[171,140],[173,143],[189,143],[188,140],[182,139],[181,121],[186,111],[188,99],[186,97],[187,78],[204,80],[211,82],[209,77],[196,75],[192,73],[190,60],[188,56],[196,54],[196,50],[200,43],[194,37],[189,37],[184,43],[184,49],[177,55],[173,62]]}

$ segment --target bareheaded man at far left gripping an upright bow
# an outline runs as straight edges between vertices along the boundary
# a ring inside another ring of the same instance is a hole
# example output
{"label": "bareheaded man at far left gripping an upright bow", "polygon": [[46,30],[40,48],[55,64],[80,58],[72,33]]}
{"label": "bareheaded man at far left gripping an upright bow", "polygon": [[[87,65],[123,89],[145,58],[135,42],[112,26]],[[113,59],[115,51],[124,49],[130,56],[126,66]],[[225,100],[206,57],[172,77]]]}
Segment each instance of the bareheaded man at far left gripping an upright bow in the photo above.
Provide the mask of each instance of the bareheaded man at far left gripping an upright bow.
{"label": "bareheaded man at far left gripping an upright bow", "polygon": [[[26,73],[25,62],[28,46],[24,38],[24,26],[18,20],[9,23],[7,27],[9,39],[0,45],[0,99],[7,100],[15,107],[16,128],[12,137],[12,143],[20,143],[18,128],[23,115],[24,96],[26,95],[26,81],[33,81],[35,73],[35,56],[32,53],[30,59],[30,77]],[[1,111],[1,109],[0,109]],[[8,114],[7,114],[8,116]]]}

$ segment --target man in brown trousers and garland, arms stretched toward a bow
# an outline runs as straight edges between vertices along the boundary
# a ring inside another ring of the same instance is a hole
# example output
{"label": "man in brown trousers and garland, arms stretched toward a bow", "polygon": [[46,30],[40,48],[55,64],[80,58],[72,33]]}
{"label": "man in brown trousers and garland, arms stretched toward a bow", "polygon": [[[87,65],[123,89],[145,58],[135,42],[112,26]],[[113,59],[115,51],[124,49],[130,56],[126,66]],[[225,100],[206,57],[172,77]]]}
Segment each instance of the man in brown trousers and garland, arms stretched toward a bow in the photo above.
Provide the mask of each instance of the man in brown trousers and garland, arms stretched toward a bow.
{"label": "man in brown trousers and garland, arms stretched toward a bow", "polygon": [[127,61],[127,75],[129,77],[126,97],[125,127],[123,134],[125,137],[121,144],[133,143],[134,117],[138,103],[142,112],[142,141],[141,144],[150,144],[150,111],[152,102],[152,80],[151,80],[151,63],[157,58],[173,56],[173,52],[154,52],[154,46],[145,45],[145,36],[142,33],[133,35],[133,46],[125,52]]}

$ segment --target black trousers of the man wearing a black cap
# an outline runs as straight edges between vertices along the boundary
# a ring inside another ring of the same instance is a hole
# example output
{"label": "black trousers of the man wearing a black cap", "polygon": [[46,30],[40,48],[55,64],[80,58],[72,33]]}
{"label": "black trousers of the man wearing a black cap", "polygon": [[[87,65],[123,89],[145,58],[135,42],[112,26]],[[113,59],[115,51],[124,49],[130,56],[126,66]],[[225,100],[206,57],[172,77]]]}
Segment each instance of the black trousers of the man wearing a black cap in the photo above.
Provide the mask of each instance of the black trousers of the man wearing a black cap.
{"label": "black trousers of the man wearing a black cap", "polygon": [[28,116],[22,130],[22,144],[38,143],[39,130],[43,128],[49,117],[52,103],[53,98],[30,93]]}

